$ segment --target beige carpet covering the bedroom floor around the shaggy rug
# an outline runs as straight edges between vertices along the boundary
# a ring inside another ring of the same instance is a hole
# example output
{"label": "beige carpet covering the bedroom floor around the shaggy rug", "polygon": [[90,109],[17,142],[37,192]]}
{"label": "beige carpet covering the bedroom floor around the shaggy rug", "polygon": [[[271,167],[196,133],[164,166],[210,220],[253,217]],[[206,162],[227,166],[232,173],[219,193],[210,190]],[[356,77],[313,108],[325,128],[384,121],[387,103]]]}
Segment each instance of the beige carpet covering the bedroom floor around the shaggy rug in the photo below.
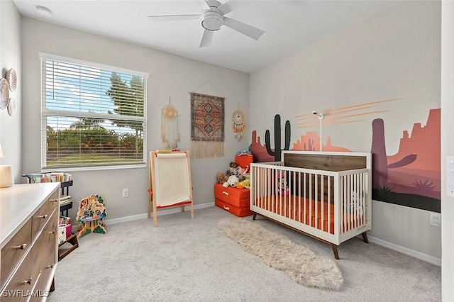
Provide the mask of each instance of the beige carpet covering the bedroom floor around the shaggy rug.
{"label": "beige carpet covering the bedroom floor around the shaggy rug", "polygon": [[[338,247],[340,291],[297,284],[285,272],[245,252],[217,225],[235,218],[210,207],[106,225],[58,262],[60,301],[441,301],[441,268],[353,238]],[[243,218],[252,222],[252,216]],[[328,245],[265,218],[253,223],[333,259]]]}

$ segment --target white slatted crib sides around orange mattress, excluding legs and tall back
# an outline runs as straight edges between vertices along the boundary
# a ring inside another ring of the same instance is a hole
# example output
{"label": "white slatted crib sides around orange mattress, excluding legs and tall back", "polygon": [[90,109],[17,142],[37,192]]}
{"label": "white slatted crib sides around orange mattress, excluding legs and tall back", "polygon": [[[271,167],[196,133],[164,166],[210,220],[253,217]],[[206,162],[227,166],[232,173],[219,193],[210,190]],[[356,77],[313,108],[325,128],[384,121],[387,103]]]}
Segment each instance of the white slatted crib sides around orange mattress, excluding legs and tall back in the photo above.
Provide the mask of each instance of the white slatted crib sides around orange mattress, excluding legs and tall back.
{"label": "white slatted crib sides around orange mattress, excluding legs and tall back", "polygon": [[339,245],[370,230],[369,169],[331,172],[253,163],[250,209]]}

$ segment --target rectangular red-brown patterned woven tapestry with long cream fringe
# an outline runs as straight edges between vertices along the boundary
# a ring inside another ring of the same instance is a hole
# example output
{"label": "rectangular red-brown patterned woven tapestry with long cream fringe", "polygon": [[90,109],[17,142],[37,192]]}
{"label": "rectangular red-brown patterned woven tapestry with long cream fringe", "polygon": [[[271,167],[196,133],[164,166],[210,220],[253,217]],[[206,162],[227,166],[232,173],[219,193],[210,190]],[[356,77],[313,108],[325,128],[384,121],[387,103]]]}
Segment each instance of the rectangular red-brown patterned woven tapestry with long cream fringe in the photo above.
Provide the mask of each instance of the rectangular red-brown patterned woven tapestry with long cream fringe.
{"label": "rectangular red-brown patterned woven tapestry with long cream fringe", "polygon": [[191,157],[224,153],[224,98],[191,92]]}

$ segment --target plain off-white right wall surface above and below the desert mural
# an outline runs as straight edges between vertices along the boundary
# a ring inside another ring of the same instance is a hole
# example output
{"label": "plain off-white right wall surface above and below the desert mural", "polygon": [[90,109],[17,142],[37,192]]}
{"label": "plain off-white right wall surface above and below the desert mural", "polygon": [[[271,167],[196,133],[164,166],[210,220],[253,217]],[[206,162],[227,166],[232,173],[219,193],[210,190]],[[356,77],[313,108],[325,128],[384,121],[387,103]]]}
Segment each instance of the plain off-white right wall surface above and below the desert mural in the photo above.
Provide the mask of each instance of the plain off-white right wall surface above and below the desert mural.
{"label": "plain off-white right wall surface above and below the desert mural", "polygon": [[[276,113],[292,124],[292,142],[312,128],[297,128],[298,115],[387,99],[362,121],[323,127],[323,138],[355,152],[370,152],[372,121],[382,118],[387,154],[397,152],[403,130],[425,125],[440,108],[441,4],[404,1],[350,28],[304,47],[250,74],[250,128],[263,143]],[[311,118],[309,116],[309,118]],[[313,117],[314,118],[314,117]],[[314,118],[316,119],[316,118]],[[372,231],[380,240],[441,257],[441,228],[429,212],[381,201],[372,203]]]}

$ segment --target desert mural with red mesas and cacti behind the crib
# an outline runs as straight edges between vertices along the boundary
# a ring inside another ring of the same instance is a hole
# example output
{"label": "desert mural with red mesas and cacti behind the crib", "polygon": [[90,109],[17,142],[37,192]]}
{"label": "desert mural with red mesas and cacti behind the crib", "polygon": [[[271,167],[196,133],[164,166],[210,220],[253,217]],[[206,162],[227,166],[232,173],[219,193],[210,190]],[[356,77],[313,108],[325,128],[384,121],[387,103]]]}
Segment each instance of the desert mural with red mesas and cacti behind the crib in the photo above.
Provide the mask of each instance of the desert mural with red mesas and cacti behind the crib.
{"label": "desert mural with red mesas and cacti behind the crib", "polygon": [[[323,127],[355,123],[365,116],[372,117],[372,199],[395,203],[427,211],[441,212],[441,109],[433,108],[428,112],[426,124],[414,123],[411,130],[402,130],[398,142],[399,149],[394,154],[387,154],[384,120],[377,110],[380,104],[402,99],[375,101],[355,106],[336,108],[329,111],[323,119]],[[285,123],[284,133],[280,130]],[[319,120],[309,114],[296,117],[296,125],[281,121],[275,116],[274,130],[265,131],[265,143],[262,144],[257,131],[252,132],[250,152],[255,162],[280,160],[282,150],[306,150],[317,152],[322,145],[323,152],[352,152],[348,146],[333,145],[331,137],[319,137]],[[271,125],[271,123],[270,123]],[[293,129],[311,129],[299,138],[292,138]],[[314,131],[314,128],[317,129]],[[364,130],[358,128],[358,131]],[[274,131],[274,132],[273,132]],[[389,131],[389,130],[388,130]],[[336,138],[336,142],[342,142]],[[273,144],[274,142],[274,144]],[[272,148],[271,145],[275,146]],[[276,152],[278,151],[278,152]]]}

